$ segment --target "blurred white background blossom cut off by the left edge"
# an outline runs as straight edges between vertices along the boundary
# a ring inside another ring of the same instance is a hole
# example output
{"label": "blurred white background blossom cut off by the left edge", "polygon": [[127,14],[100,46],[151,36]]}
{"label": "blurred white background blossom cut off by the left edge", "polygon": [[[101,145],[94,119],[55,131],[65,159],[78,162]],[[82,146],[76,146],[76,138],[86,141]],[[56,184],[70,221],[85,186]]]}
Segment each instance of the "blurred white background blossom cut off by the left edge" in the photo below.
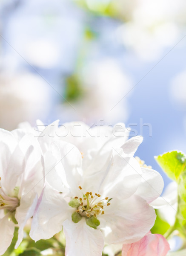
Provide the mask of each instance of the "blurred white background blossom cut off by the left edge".
{"label": "blurred white background blossom cut off by the left edge", "polygon": [[45,118],[50,109],[46,81],[32,73],[0,73],[0,127],[12,130],[21,121]]}

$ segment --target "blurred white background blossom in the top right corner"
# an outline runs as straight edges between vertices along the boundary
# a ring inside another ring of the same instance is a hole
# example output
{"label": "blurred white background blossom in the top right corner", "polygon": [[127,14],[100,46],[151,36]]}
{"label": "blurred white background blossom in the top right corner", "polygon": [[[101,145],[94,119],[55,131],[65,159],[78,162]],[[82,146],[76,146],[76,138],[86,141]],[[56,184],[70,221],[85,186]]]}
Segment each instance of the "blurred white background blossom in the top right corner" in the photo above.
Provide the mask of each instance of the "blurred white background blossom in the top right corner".
{"label": "blurred white background blossom in the top right corner", "polygon": [[181,25],[186,20],[182,20],[180,15],[183,9],[186,10],[186,3],[181,0],[134,0],[132,3],[133,8],[129,6],[131,14],[118,29],[118,36],[140,58],[156,60],[166,47],[173,47],[181,38]]}

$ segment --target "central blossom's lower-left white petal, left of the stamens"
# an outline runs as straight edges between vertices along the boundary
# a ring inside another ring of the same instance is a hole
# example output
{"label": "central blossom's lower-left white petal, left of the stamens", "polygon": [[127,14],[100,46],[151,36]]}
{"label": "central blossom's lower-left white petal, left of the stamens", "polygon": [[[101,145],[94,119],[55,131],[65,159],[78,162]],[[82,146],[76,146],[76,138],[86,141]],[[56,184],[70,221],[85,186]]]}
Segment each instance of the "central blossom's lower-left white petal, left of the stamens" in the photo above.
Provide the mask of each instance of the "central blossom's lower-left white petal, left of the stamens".
{"label": "central blossom's lower-left white petal, left of the stamens", "polygon": [[60,232],[63,221],[69,218],[73,211],[62,194],[45,186],[34,212],[30,237],[34,241],[51,238]]}

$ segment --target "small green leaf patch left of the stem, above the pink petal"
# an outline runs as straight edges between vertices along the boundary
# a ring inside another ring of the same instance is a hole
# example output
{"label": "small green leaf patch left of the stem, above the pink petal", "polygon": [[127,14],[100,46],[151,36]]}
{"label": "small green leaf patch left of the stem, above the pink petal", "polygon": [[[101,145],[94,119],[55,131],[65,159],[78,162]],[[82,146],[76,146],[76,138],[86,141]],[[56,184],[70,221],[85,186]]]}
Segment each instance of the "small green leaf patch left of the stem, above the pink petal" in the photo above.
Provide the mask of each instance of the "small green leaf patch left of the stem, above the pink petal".
{"label": "small green leaf patch left of the stem, above the pink petal", "polygon": [[155,210],[155,211],[156,211],[157,217],[155,220],[155,224],[151,229],[151,233],[164,235],[167,232],[167,230],[170,228],[170,225],[160,217],[158,210]]}

